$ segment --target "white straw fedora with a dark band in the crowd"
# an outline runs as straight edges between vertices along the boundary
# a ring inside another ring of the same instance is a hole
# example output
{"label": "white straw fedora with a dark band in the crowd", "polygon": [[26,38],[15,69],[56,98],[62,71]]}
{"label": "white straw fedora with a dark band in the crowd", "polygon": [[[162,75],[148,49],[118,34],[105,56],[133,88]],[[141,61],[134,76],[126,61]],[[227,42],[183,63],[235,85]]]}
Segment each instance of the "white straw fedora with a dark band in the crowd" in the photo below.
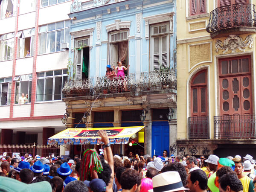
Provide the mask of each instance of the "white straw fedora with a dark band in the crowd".
{"label": "white straw fedora with a dark band in the crowd", "polygon": [[152,178],[153,189],[148,192],[184,192],[180,175],[178,172],[164,172]]}

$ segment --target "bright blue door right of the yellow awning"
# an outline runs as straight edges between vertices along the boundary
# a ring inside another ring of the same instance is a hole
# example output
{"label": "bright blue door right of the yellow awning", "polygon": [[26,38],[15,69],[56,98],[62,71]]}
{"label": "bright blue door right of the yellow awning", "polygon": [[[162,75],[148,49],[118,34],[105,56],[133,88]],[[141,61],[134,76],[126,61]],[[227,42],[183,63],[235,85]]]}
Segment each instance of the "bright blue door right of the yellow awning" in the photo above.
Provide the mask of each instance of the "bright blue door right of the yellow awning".
{"label": "bright blue door right of the yellow awning", "polygon": [[152,156],[162,156],[163,150],[169,152],[169,123],[152,122]]}

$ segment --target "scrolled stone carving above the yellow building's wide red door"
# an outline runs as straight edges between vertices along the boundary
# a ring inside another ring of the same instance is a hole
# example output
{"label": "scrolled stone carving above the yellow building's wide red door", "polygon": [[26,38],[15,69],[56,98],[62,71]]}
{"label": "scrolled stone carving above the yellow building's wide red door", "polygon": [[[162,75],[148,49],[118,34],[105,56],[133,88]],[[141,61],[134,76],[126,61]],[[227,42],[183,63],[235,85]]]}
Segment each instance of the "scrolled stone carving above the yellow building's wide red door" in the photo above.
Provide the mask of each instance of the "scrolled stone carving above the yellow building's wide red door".
{"label": "scrolled stone carving above the yellow building's wide red door", "polygon": [[215,51],[218,52],[219,49],[222,49],[224,50],[223,51],[224,54],[228,52],[229,49],[232,50],[232,53],[235,53],[236,49],[239,49],[240,51],[244,52],[246,47],[249,47],[249,48],[253,47],[252,35],[248,35],[244,41],[238,35],[229,35],[224,40],[223,43],[220,40],[216,40],[216,43],[215,43],[215,49],[216,49]]}

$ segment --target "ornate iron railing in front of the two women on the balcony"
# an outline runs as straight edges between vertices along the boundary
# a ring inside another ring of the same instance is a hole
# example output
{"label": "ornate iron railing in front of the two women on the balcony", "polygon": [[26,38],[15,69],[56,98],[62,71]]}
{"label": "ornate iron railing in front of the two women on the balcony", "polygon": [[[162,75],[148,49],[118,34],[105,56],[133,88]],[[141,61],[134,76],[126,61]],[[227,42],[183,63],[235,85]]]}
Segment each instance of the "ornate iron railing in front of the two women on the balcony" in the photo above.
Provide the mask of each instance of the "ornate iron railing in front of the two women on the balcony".
{"label": "ornate iron railing in front of the two women on the balcony", "polygon": [[134,74],[128,74],[125,77],[98,77],[94,90],[97,94],[134,92],[136,89]]}

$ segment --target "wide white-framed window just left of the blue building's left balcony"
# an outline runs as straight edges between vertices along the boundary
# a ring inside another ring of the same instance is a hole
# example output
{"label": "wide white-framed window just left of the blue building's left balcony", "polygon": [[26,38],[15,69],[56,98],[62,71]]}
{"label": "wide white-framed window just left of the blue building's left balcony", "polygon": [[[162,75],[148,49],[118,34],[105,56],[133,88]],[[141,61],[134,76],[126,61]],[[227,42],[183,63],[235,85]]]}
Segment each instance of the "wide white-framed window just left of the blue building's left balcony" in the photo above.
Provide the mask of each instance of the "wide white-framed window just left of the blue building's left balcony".
{"label": "wide white-framed window just left of the blue building's left balcony", "polygon": [[36,101],[61,100],[61,90],[67,81],[67,69],[37,73]]}

